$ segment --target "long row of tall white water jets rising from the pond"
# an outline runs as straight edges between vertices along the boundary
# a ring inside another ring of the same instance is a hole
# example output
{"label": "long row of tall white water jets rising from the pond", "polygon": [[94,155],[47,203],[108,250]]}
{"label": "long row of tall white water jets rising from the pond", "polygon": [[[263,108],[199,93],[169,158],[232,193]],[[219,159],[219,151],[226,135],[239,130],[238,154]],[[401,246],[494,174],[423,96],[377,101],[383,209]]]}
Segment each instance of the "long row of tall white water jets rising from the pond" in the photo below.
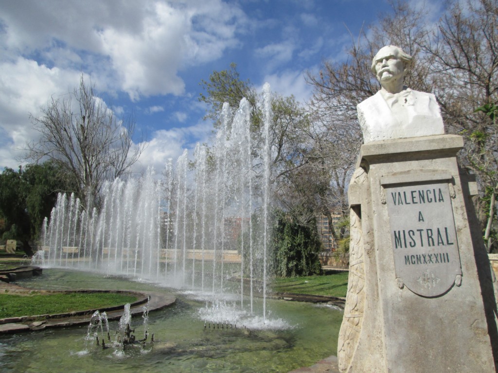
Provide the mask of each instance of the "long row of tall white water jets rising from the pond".
{"label": "long row of tall white water jets rising from the pond", "polygon": [[[148,169],[139,180],[105,183],[100,212],[89,213],[74,195],[68,200],[60,194],[43,229],[45,265],[188,287],[220,312],[239,303],[240,312],[252,315],[258,291],[264,322],[271,225],[268,86],[263,96],[261,132],[250,127],[246,99],[234,116],[224,104],[212,148],[198,144],[193,162],[185,150],[175,168],[168,160],[162,180]],[[78,253],[70,255],[63,243]]]}

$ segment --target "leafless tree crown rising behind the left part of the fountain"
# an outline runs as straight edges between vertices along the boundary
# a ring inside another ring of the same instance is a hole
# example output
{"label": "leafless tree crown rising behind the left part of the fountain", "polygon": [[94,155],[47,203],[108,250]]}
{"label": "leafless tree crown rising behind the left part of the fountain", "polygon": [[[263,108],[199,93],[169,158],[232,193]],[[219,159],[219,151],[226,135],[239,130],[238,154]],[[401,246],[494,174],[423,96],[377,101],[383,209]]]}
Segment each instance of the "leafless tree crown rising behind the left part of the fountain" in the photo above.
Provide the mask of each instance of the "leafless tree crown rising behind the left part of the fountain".
{"label": "leafless tree crown rising behind the left part of the fountain", "polygon": [[82,76],[68,97],[52,97],[41,116],[30,116],[40,137],[27,144],[28,159],[51,159],[77,181],[76,192],[88,211],[104,181],[126,177],[143,151],[142,145],[133,146],[134,120],[118,120],[94,89]]}

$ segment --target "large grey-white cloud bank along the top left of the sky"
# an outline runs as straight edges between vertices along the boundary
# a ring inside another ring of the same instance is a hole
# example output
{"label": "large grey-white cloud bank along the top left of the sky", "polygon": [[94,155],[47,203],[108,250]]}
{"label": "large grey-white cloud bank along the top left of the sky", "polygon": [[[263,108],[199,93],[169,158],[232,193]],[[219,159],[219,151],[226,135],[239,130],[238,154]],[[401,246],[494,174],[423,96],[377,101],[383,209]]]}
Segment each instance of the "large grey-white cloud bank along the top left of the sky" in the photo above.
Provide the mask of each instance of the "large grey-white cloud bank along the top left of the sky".
{"label": "large grey-white cloud bank along the top left of the sky", "polygon": [[48,66],[90,68],[133,100],[182,94],[179,70],[239,45],[247,22],[221,0],[5,1],[0,14],[4,59],[35,52]]}

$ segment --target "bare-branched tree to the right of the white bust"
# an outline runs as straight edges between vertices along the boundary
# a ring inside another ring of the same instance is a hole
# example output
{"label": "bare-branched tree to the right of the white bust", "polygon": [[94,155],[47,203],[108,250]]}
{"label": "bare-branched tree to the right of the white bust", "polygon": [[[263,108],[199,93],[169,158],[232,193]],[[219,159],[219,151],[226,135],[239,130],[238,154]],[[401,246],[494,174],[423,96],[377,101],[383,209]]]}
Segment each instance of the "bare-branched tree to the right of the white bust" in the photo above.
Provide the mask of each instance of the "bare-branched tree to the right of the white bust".
{"label": "bare-branched tree to the right of the white bust", "polygon": [[[405,79],[416,90],[433,92],[449,133],[465,138],[460,163],[478,177],[476,200],[488,251],[493,250],[498,192],[498,4],[493,0],[446,3],[439,21],[426,23],[427,10],[394,1],[394,15],[373,28],[373,40],[395,44],[416,56]],[[383,35],[383,37],[382,37]]]}

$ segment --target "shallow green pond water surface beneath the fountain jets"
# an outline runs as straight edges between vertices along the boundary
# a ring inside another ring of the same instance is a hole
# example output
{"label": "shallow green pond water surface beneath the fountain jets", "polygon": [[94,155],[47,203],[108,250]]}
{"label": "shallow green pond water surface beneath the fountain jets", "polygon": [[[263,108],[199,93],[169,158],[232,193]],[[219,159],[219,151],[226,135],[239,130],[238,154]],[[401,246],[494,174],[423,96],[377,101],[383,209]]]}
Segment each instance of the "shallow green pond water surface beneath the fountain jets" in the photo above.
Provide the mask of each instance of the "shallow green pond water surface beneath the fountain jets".
{"label": "shallow green pond water surface beneath the fountain jets", "polygon": [[[19,284],[174,292],[150,283],[52,269]],[[128,346],[123,351],[109,342],[110,348],[103,350],[85,339],[86,326],[0,336],[0,372],[288,372],[336,354],[342,312],[333,308],[267,300],[271,327],[253,328],[249,333],[242,325],[204,328],[199,310],[205,302],[192,299],[192,294],[175,294],[176,304],[149,313],[153,344]],[[260,306],[258,299],[255,314]],[[109,328],[113,336],[118,321],[111,321]],[[142,317],[133,317],[131,328],[137,339],[143,338]]]}

